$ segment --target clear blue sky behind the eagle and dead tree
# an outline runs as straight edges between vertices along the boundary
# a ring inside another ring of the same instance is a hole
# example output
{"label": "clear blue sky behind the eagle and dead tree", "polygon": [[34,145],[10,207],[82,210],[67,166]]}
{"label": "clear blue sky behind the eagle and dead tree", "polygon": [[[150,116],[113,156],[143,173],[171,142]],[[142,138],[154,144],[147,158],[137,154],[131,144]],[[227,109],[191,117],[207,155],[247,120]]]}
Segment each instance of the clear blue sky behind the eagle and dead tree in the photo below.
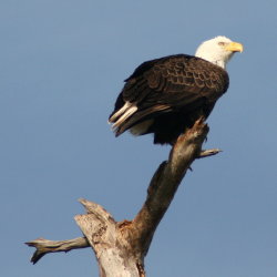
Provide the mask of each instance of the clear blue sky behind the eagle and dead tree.
{"label": "clear blue sky behind the eagle and dead tree", "polygon": [[193,54],[218,34],[245,45],[208,119],[205,147],[158,226],[148,276],[276,277],[276,1],[0,3],[1,275],[98,276],[91,249],[29,263],[24,242],[81,236],[84,197],[117,220],[140,209],[168,146],[107,125],[141,62]]}

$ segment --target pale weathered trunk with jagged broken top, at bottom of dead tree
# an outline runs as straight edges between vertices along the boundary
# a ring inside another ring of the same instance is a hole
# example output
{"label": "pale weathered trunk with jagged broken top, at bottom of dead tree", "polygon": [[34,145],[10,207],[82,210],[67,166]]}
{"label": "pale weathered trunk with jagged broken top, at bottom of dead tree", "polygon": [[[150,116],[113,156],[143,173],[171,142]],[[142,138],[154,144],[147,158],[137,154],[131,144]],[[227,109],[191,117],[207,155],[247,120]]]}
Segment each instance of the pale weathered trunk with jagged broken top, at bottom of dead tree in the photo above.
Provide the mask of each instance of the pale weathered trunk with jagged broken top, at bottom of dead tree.
{"label": "pale weathered trunk with jagged broken top, at bottom of dead tree", "polygon": [[129,242],[122,236],[121,224],[100,205],[80,199],[86,215],[76,215],[75,220],[92,246],[100,268],[100,276],[144,276],[140,274],[140,260],[133,255]]}

